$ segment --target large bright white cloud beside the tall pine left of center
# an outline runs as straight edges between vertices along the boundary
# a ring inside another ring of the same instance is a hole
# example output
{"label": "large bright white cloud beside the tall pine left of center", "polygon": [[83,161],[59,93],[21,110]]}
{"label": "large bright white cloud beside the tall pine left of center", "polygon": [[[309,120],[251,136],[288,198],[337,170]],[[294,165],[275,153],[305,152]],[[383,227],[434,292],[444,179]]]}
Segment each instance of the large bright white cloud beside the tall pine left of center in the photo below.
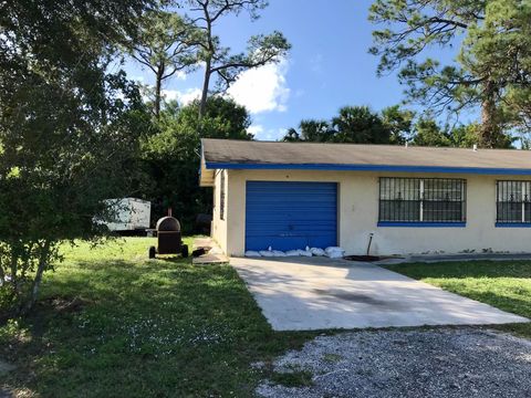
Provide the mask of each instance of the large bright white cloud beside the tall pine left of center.
{"label": "large bright white cloud beside the tall pine left of center", "polygon": [[252,114],[285,112],[290,96],[290,88],[285,83],[287,72],[285,61],[242,72],[228,90],[228,94]]}

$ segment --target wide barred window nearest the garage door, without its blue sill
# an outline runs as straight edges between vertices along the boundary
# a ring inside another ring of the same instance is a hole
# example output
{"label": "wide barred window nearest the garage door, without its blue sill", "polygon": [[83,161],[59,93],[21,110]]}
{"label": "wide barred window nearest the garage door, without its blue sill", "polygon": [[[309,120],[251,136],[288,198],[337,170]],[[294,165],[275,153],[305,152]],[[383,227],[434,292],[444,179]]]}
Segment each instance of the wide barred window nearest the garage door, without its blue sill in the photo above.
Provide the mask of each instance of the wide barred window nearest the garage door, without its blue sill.
{"label": "wide barred window nearest the garage door, without its blue sill", "polygon": [[389,178],[379,179],[381,222],[465,222],[464,179]]}

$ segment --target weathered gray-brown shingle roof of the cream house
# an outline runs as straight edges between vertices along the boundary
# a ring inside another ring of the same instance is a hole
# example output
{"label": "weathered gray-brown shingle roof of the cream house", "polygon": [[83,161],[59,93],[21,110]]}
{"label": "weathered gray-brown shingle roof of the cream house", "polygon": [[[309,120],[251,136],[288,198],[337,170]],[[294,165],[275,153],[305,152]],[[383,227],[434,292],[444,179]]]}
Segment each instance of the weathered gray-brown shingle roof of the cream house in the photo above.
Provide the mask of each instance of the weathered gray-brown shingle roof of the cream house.
{"label": "weathered gray-brown shingle roof of the cream house", "polygon": [[305,168],[313,165],[323,169],[348,169],[351,166],[371,169],[395,166],[404,169],[426,167],[434,171],[435,168],[470,168],[531,174],[531,150],[519,149],[204,139],[202,154],[206,168],[282,168],[282,165]]}

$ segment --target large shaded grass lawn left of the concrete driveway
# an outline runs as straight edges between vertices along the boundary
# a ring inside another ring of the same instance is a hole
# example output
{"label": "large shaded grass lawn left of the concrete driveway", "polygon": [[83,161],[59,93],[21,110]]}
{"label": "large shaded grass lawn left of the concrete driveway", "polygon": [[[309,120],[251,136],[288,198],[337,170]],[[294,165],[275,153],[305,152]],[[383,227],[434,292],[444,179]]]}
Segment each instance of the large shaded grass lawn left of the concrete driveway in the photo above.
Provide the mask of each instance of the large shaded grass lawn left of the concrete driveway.
{"label": "large shaded grass lawn left of the concrete driveway", "polygon": [[[190,244],[190,240],[187,240]],[[64,248],[34,314],[0,326],[0,386],[42,397],[248,397],[312,333],[273,332],[228,265],[148,260],[155,239]]]}

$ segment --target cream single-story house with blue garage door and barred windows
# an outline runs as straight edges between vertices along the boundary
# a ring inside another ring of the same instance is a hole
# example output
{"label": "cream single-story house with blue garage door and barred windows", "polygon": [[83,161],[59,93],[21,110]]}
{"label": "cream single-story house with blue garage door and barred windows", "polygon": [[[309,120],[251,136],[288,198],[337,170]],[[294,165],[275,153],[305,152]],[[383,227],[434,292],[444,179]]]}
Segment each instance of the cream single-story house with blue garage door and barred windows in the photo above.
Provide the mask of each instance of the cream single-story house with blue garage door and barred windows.
{"label": "cream single-story house with blue garage door and barred windows", "polygon": [[204,139],[212,237],[246,250],[531,252],[531,151]]}

